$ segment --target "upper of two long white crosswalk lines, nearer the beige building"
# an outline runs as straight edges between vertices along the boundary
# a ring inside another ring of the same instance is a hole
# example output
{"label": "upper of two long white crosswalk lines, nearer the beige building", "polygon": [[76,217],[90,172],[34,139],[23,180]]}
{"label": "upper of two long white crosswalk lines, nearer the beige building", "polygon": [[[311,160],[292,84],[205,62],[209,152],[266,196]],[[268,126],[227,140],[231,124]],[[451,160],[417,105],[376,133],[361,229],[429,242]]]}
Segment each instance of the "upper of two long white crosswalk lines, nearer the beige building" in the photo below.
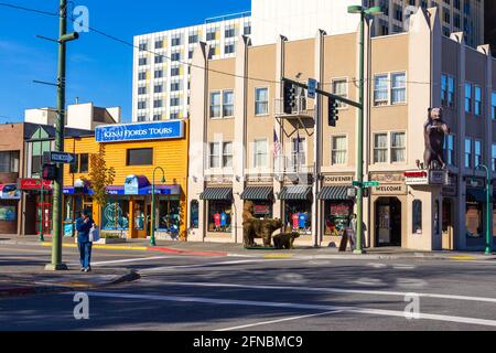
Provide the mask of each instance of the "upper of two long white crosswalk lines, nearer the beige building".
{"label": "upper of two long white crosswalk lines, nearer the beige building", "polygon": [[[200,284],[200,282],[170,282],[157,281],[162,286],[185,286],[185,287],[203,287],[203,288],[237,288],[237,289],[266,289],[266,290],[294,290],[294,291],[311,291],[311,292],[327,292],[327,293],[345,293],[345,295],[366,295],[366,296],[391,296],[405,298],[411,295],[411,291],[382,291],[382,290],[357,290],[357,289],[342,289],[342,288],[324,288],[324,287],[289,287],[289,286],[255,286],[255,285],[234,285],[234,284]],[[436,295],[436,293],[416,293],[423,298],[463,300],[463,301],[479,301],[496,303],[496,298],[487,297],[467,297],[467,296],[452,296],[452,295]]]}

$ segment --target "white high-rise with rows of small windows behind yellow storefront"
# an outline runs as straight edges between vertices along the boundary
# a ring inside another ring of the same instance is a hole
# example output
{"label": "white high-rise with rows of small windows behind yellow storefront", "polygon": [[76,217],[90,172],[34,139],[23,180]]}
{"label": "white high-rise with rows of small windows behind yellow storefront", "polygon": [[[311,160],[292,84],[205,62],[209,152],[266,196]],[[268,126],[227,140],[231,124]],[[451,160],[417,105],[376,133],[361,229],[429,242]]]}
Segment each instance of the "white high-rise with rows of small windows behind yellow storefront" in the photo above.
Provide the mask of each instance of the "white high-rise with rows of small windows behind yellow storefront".
{"label": "white high-rise with rows of small windows behind yellow storefront", "polygon": [[190,66],[198,42],[212,58],[235,55],[240,35],[251,34],[250,13],[134,38],[132,120],[180,119],[188,115]]}

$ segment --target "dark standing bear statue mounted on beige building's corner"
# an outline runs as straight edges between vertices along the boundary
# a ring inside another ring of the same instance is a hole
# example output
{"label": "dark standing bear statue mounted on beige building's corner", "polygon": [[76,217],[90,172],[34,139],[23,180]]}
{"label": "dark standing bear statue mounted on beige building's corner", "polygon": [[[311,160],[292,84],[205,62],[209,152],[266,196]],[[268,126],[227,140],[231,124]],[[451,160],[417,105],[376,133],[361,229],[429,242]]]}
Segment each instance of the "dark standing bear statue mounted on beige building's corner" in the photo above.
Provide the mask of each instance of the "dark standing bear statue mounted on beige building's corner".
{"label": "dark standing bear statue mounted on beige building's corner", "polygon": [[443,120],[441,108],[429,108],[429,118],[423,126],[425,152],[423,156],[425,169],[446,169],[444,161],[444,140],[450,128]]}

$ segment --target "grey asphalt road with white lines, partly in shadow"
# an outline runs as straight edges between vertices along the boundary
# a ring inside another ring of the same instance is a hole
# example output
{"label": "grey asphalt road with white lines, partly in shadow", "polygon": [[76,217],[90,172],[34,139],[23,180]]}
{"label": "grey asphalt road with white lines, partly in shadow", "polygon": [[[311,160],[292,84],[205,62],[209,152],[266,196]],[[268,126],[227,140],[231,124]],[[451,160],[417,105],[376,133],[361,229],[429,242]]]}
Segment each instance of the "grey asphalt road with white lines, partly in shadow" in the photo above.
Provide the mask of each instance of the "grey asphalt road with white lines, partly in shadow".
{"label": "grey asphalt road with white lines, partly in shadow", "polygon": [[[2,246],[0,266],[44,264],[47,252]],[[77,264],[75,250],[64,254]],[[96,270],[108,266],[133,268],[142,278],[88,292],[89,320],[74,319],[74,293],[10,298],[0,300],[0,330],[496,330],[496,261],[97,250]],[[407,306],[417,302],[417,319],[407,319]]]}

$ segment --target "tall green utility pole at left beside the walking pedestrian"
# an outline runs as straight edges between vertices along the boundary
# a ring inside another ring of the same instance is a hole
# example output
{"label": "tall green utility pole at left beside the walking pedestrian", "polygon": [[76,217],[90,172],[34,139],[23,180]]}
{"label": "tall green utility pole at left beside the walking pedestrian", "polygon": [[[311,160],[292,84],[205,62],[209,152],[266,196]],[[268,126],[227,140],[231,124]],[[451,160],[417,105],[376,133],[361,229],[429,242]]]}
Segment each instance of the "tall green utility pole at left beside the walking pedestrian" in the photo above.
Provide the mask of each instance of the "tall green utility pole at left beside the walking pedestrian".
{"label": "tall green utility pole at left beside the walking pedestrian", "polygon": [[[61,0],[60,9],[60,36],[58,36],[58,74],[57,74],[57,121],[55,131],[55,151],[64,152],[65,127],[65,76],[66,76],[66,43],[77,40],[79,35],[74,32],[67,34],[67,0]],[[53,184],[53,248],[52,264],[45,269],[51,271],[66,270],[62,263],[62,196],[64,188],[64,165],[57,164],[57,180]]]}

